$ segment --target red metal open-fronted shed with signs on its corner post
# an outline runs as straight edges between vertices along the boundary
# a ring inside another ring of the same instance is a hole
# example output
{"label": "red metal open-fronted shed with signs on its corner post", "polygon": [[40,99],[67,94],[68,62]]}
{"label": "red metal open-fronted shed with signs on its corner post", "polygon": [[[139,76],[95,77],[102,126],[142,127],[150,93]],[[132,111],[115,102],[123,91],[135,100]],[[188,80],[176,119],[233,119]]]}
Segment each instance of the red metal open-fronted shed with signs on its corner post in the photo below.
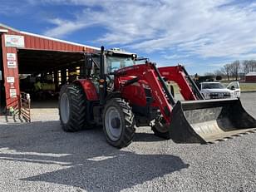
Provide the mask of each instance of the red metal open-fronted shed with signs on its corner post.
{"label": "red metal open-fronted shed with signs on its corner post", "polygon": [[39,101],[57,97],[66,81],[79,78],[86,53],[98,51],[0,24],[0,110],[20,108],[22,93]]}

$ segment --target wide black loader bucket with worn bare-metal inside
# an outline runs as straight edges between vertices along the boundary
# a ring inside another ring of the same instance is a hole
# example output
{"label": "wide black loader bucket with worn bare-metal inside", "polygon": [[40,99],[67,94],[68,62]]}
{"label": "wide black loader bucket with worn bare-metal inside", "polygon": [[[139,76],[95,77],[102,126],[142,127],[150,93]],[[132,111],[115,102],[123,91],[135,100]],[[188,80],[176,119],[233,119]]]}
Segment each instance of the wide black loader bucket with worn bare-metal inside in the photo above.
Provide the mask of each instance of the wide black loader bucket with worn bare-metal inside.
{"label": "wide black loader bucket with worn bare-metal inside", "polygon": [[177,101],[170,120],[170,138],[176,143],[207,144],[256,132],[256,120],[237,98]]}

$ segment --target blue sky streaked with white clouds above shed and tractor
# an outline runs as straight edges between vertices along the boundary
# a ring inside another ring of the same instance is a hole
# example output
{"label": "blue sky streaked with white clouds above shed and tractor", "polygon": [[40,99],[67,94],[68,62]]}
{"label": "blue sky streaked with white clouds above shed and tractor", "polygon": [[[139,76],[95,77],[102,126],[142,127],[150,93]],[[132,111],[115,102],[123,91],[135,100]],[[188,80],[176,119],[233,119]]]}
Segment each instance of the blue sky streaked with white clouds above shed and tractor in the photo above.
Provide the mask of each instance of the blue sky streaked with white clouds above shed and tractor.
{"label": "blue sky streaked with white clouds above shed and tractor", "polygon": [[0,0],[0,22],[94,47],[120,47],[190,74],[256,59],[256,1]]}

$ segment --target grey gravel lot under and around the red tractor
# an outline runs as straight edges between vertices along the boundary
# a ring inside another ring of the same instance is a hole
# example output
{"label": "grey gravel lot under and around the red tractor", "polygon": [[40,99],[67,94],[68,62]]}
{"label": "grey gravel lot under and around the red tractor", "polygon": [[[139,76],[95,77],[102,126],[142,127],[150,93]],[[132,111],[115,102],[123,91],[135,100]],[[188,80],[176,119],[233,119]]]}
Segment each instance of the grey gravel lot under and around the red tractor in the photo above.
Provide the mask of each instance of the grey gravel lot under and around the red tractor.
{"label": "grey gravel lot under and around the red tractor", "polygon": [[[254,117],[255,98],[242,94]],[[256,191],[256,134],[178,145],[144,127],[116,150],[101,129],[65,133],[56,114],[44,118],[0,125],[1,191]]]}

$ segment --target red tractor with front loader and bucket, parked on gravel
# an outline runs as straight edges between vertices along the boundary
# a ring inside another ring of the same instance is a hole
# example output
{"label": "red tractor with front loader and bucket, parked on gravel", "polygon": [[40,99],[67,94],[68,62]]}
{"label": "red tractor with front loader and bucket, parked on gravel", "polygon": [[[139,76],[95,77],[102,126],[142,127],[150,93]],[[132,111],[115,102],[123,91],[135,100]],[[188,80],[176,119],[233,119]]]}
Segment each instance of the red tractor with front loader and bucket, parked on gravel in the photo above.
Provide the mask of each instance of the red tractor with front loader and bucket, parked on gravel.
{"label": "red tractor with front loader and bucket, parked on gravel", "polygon": [[[130,144],[135,127],[177,143],[214,143],[256,132],[256,120],[238,98],[204,100],[183,66],[157,68],[147,59],[116,50],[86,55],[84,76],[62,86],[62,129],[103,126],[109,144]],[[185,101],[176,101],[170,81]]]}

